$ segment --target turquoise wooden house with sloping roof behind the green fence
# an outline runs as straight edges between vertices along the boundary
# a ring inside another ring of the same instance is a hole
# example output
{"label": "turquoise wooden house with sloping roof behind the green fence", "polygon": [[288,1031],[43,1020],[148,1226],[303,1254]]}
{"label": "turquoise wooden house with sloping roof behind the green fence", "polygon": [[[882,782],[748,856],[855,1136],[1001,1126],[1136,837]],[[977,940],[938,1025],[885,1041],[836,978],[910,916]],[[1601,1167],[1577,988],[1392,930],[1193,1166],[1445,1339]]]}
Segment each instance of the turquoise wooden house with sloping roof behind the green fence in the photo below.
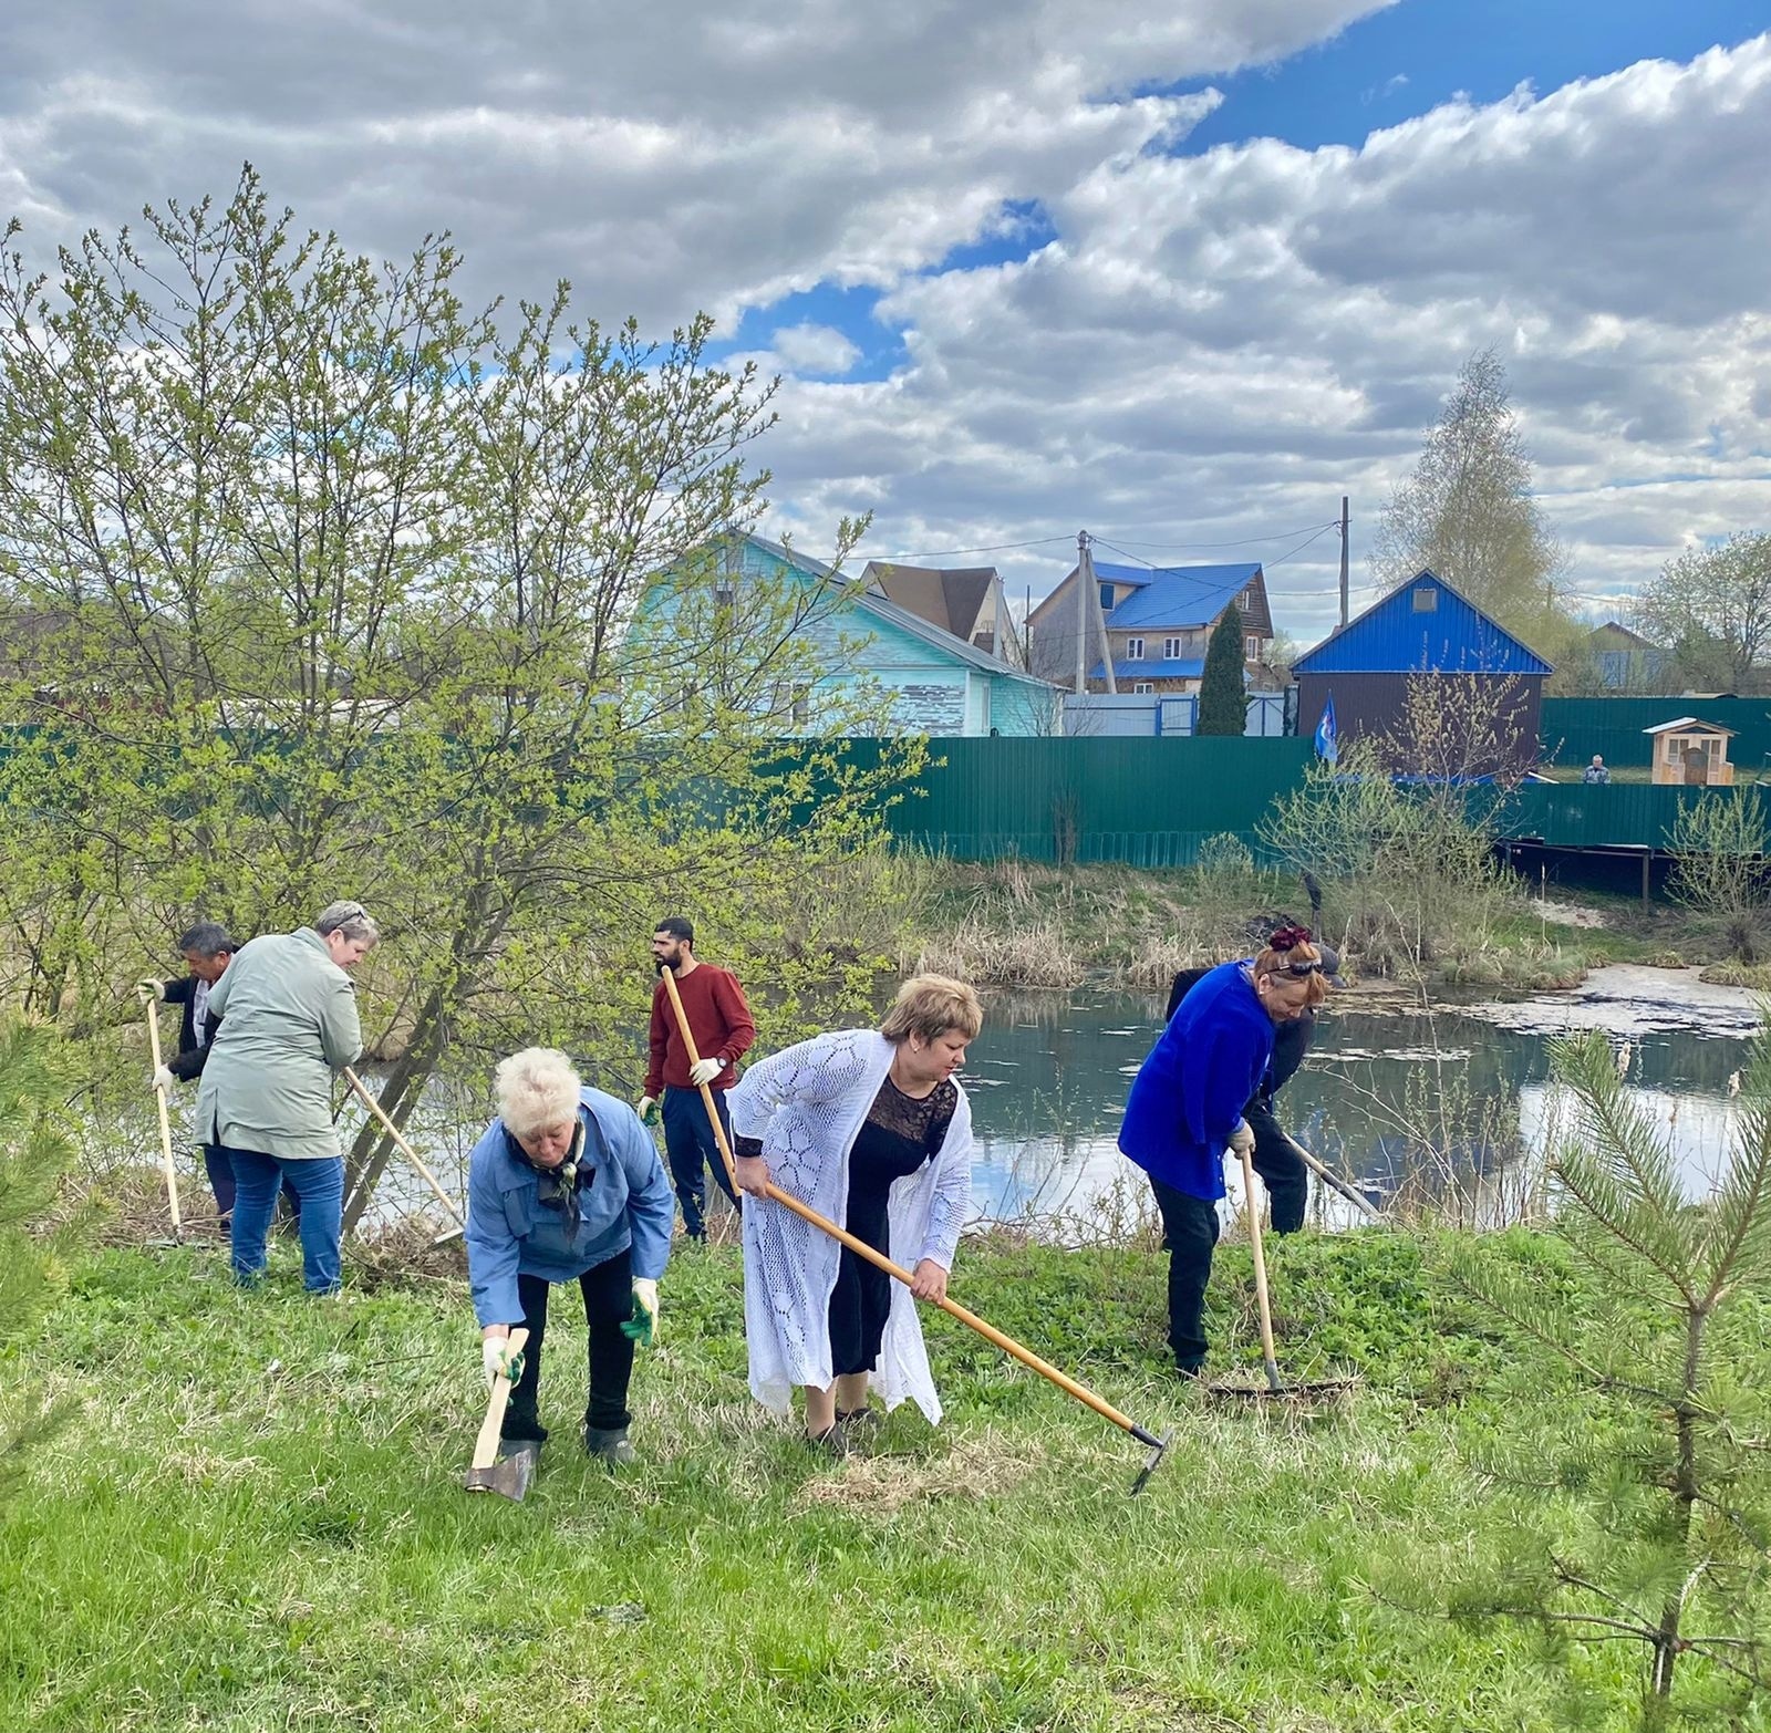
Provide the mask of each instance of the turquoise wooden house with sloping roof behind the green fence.
{"label": "turquoise wooden house with sloping roof behind the green fence", "polygon": [[877,586],[836,575],[822,559],[758,535],[721,549],[714,582],[731,586],[721,602],[744,605],[746,581],[802,584],[829,591],[800,628],[827,669],[808,703],[877,692],[886,728],[898,735],[1054,735],[1063,694],[889,600]]}

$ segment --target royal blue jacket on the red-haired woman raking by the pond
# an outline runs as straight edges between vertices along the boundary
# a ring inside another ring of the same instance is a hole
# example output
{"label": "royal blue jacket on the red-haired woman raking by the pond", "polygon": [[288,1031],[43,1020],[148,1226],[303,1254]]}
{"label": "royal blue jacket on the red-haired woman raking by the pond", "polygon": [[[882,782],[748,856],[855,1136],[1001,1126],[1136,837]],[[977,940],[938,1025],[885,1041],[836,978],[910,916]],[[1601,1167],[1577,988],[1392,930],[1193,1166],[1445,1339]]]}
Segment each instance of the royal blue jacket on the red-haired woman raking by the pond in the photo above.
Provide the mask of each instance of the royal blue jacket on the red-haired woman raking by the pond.
{"label": "royal blue jacket on the red-haired woman raking by the pond", "polygon": [[1213,968],[1132,1080],[1119,1149],[1188,1197],[1224,1195],[1224,1149],[1273,1057],[1273,1020],[1241,963]]}

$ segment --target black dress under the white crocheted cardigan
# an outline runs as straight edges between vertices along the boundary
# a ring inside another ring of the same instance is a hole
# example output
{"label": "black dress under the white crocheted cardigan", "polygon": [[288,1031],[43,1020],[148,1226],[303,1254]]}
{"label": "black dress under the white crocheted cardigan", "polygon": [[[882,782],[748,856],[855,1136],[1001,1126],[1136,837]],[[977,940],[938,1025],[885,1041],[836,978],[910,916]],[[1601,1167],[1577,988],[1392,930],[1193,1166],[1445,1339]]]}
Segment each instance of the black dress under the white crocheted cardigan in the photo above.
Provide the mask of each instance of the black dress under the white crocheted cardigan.
{"label": "black dress under the white crocheted cardigan", "polygon": [[[891,1188],[932,1159],[947,1136],[960,1092],[942,1078],[921,1101],[886,1078],[848,1151],[848,1205],[843,1227],[875,1252],[889,1252]],[[838,1377],[871,1372],[891,1312],[893,1278],[843,1246],[831,1290],[831,1370]]]}

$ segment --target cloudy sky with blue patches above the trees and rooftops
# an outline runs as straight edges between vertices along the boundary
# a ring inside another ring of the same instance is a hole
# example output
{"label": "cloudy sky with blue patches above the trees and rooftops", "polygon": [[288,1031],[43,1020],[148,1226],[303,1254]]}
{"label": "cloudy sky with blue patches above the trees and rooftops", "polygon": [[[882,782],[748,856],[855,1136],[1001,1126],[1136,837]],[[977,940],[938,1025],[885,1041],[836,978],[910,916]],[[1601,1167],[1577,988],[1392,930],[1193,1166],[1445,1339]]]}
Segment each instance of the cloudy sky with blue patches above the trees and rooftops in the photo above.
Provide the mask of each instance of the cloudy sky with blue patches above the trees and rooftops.
{"label": "cloudy sky with blue patches above the trees and rooftops", "polygon": [[[0,218],[273,200],[783,375],[767,528],[1001,566],[1264,559],[1355,607],[1505,359],[1599,612],[1771,528],[1771,4],[58,0],[0,25]],[[1017,545],[1008,545],[1017,543]],[[988,552],[974,552],[986,549]],[[1116,549],[1121,552],[1110,552]]]}

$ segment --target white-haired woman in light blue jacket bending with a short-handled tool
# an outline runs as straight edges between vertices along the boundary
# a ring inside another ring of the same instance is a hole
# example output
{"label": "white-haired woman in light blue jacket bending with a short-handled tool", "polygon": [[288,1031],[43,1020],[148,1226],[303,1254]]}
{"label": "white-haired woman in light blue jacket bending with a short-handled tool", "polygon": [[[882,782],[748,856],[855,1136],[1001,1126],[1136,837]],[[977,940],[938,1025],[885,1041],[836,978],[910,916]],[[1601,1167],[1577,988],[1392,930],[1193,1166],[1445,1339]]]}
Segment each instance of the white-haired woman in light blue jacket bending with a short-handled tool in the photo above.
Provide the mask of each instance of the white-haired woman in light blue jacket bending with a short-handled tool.
{"label": "white-haired woman in light blue jacket bending with a short-handled tool", "polygon": [[[639,1115],[586,1089],[554,1048],[524,1048],[494,1073],[498,1119],[468,1158],[468,1280],[485,1379],[512,1377],[505,1437],[540,1443],[537,1397],[547,1289],[577,1282],[588,1328],[584,1448],[630,1462],[627,1384],[634,1347],[657,1333],[659,1276],[675,1200]],[[528,1347],[512,1356],[515,1324]]]}

